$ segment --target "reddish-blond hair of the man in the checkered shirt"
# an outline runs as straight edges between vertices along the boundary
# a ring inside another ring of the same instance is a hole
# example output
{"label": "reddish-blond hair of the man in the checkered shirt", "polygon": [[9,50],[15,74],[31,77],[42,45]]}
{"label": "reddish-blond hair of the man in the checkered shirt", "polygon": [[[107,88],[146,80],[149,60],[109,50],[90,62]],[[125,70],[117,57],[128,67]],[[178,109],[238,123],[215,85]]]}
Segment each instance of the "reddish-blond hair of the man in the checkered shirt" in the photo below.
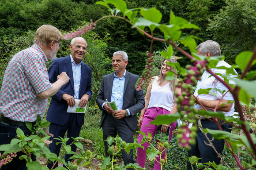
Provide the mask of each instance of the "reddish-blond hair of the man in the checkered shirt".
{"label": "reddish-blond hair of the man in the checkered shirt", "polygon": [[34,43],[50,45],[52,41],[60,42],[62,39],[62,34],[56,27],[52,25],[42,25],[35,33]]}

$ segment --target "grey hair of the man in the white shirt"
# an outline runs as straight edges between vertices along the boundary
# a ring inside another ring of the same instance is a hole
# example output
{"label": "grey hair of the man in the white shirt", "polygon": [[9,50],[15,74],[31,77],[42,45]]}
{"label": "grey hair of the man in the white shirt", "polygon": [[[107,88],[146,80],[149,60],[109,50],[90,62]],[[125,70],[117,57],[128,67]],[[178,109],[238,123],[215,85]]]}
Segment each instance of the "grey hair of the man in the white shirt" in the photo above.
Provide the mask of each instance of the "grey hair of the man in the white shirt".
{"label": "grey hair of the man in the white shirt", "polygon": [[211,54],[211,57],[221,55],[221,50],[220,50],[219,44],[213,40],[207,40],[203,43],[200,43],[196,47],[197,51],[199,49],[203,55],[206,54],[207,52],[209,52]]}

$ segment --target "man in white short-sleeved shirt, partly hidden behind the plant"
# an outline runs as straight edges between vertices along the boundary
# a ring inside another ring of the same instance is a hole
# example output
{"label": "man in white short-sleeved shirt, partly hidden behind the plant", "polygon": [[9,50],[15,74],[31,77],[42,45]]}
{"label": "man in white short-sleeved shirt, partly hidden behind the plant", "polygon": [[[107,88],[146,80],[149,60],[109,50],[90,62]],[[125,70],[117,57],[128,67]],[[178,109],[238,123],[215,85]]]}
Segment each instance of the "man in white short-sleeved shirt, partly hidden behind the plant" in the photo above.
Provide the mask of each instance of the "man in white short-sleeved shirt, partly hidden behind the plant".
{"label": "man in white short-sleeved shirt, partly hidden behind the plant", "polygon": [[[203,43],[200,43],[196,47],[196,50],[197,50],[197,54],[206,56],[206,57],[214,57],[214,56],[221,55],[221,50],[220,50],[219,44],[213,40],[207,40]],[[231,65],[226,63],[224,60],[219,61],[218,64],[216,65],[217,68],[220,66],[225,66],[227,68],[231,67]],[[211,69],[211,70],[215,74],[218,74],[218,73],[222,74],[222,75],[226,74],[225,69]],[[234,72],[237,74],[237,72],[235,70],[234,70]],[[231,75],[231,77],[232,76],[235,77],[237,75]],[[223,78],[222,78],[222,80],[223,80]],[[229,83],[232,84],[234,82],[230,81]],[[211,93],[198,95],[198,90],[207,89],[207,88],[212,88],[211,92],[215,93],[216,96],[212,95]],[[214,88],[221,90],[221,91],[225,90],[225,92],[221,93],[219,91],[214,90]],[[232,101],[233,96],[230,92],[226,93],[227,91],[228,91],[228,88],[225,87],[224,84],[220,83],[214,76],[211,76],[211,74],[209,72],[204,71],[203,75],[201,77],[201,80],[198,81],[197,85],[196,85],[196,90],[195,90],[194,95],[197,97],[198,101],[197,101],[197,105],[195,105],[194,107],[196,109],[201,109],[202,106],[198,105],[198,103],[201,103],[206,108],[214,109],[216,107],[216,105],[218,105],[219,102],[220,102],[219,105],[221,105],[222,103],[227,103],[228,101]],[[224,97],[223,97],[223,95],[224,95]],[[233,116],[234,110],[235,110],[234,103],[225,104],[217,109],[218,112],[222,112],[225,116]],[[213,129],[213,130],[219,130],[217,124],[210,119],[202,117],[201,124],[202,124],[203,129],[208,128],[208,129]],[[224,124],[222,124],[221,127],[222,127],[222,130],[231,132],[232,125],[230,125],[229,123],[224,123]],[[209,137],[209,139],[212,139],[212,136],[209,133],[207,134],[207,137]],[[198,158],[201,158],[199,160],[199,162],[201,162],[201,163],[208,163],[209,161],[210,162],[214,161],[216,164],[219,164],[220,158],[218,158],[218,154],[215,152],[215,150],[211,146],[206,145],[204,142],[209,143],[209,141],[207,140],[207,138],[205,137],[203,132],[198,128],[196,144],[192,145],[192,149],[188,151],[188,157],[197,156]],[[222,154],[225,141],[214,139],[212,141],[212,143],[213,143],[215,149],[217,150],[217,152],[219,154]],[[193,168],[194,168],[194,170],[196,169],[195,166]],[[192,170],[191,164],[189,162],[188,162],[188,170]]]}

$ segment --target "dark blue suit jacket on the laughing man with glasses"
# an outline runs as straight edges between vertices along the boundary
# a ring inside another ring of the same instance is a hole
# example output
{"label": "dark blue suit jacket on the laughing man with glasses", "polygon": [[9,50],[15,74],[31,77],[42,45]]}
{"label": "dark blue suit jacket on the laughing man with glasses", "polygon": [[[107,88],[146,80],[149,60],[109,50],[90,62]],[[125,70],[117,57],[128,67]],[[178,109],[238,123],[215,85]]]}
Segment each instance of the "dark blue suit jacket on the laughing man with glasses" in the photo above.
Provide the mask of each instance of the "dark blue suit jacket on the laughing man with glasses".
{"label": "dark blue suit jacket on the laughing man with glasses", "polygon": [[[68,57],[56,58],[52,61],[52,64],[48,70],[49,80],[51,83],[56,82],[57,76],[61,72],[66,72],[70,80],[67,84],[60,88],[60,90],[52,97],[52,101],[49,105],[46,120],[51,123],[64,125],[67,123],[69,114],[78,114],[77,123],[82,126],[84,123],[83,113],[67,113],[68,103],[62,98],[64,93],[74,96],[74,79],[71,65],[70,55]],[[79,89],[79,99],[83,94],[89,94],[91,98],[91,69],[85,63],[81,63],[81,82]],[[89,100],[90,100],[89,98]]]}

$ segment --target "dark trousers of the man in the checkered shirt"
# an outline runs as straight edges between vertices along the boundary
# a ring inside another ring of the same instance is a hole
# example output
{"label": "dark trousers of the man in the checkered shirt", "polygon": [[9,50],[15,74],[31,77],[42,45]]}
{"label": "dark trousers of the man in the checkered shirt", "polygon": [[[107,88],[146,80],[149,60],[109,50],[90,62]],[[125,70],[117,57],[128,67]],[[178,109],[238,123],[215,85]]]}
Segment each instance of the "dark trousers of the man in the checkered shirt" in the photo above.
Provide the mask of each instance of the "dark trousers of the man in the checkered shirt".
{"label": "dark trousers of the man in the checkered shirt", "polygon": [[[23,130],[25,135],[31,135],[31,131],[27,127],[7,125],[0,121],[0,145],[9,144],[17,135],[16,130],[18,127]],[[1,151],[1,154],[3,153],[4,151]],[[19,156],[22,155],[24,155],[23,152],[18,152],[17,156],[12,159],[11,163],[1,166],[1,170],[27,170],[26,160],[19,159]],[[36,156],[32,154],[31,159],[36,161]]]}

